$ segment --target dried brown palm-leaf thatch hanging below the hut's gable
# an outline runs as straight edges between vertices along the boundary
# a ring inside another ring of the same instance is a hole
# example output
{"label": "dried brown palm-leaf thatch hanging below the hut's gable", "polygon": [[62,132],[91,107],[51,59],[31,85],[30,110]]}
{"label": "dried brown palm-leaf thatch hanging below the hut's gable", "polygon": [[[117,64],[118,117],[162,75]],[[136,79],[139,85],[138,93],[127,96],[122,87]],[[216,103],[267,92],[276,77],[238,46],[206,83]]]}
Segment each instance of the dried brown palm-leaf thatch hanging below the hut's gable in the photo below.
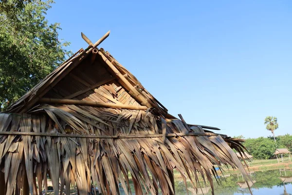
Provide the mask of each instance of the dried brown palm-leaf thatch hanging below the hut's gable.
{"label": "dried brown palm-leaf thatch hanging below the hut's gable", "polygon": [[[128,194],[128,172],[136,194],[154,195],[157,186],[163,194],[173,194],[168,171],[173,169],[181,174],[185,184],[186,179],[190,179],[193,189],[201,188],[201,176],[210,182],[214,192],[212,176],[217,175],[214,166],[221,164],[239,168],[248,180],[229,146],[240,145],[237,139],[216,134],[167,137],[173,133],[204,133],[204,130],[201,126],[189,127],[182,120],[157,117],[143,110],[42,104],[31,114],[0,114],[0,121],[1,132],[140,136],[85,138],[0,134],[6,195],[12,195],[16,183],[18,190],[23,188],[23,177],[28,179],[30,193],[35,194],[37,186],[47,183],[46,174],[52,179],[55,194],[66,185],[66,195],[70,194],[70,184],[77,186],[80,195],[87,195],[91,186],[100,189],[102,194],[116,195],[119,184]],[[141,138],[141,135],[155,134],[163,136]],[[26,175],[19,177],[24,169]]]}

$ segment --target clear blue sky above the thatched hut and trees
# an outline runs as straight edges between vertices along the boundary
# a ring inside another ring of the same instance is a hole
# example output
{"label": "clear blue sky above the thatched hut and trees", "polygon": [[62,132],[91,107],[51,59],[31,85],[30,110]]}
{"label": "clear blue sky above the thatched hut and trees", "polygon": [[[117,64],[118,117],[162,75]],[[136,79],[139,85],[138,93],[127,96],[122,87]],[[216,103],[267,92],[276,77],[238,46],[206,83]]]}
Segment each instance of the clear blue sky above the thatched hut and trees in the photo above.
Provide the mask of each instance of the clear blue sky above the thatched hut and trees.
{"label": "clear blue sky above the thatched hut and trees", "polygon": [[292,133],[292,1],[56,0],[47,13],[60,22],[70,50],[100,46],[188,123],[229,136]]}

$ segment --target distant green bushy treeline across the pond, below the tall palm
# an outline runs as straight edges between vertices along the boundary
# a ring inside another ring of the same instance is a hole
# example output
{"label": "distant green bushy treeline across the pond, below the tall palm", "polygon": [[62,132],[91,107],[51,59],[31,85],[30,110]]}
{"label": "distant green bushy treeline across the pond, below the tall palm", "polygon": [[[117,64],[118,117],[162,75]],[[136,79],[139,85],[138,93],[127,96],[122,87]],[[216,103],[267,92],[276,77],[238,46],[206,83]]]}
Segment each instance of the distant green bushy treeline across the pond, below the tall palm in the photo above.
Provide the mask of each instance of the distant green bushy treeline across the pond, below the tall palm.
{"label": "distant green bushy treeline across the pond, below the tall palm", "polygon": [[[244,138],[240,136],[241,138]],[[275,156],[276,148],[287,148],[292,152],[292,135],[277,136],[276,145],[273,137],[245,138],[243,145],[256,159],[270,159]]]}

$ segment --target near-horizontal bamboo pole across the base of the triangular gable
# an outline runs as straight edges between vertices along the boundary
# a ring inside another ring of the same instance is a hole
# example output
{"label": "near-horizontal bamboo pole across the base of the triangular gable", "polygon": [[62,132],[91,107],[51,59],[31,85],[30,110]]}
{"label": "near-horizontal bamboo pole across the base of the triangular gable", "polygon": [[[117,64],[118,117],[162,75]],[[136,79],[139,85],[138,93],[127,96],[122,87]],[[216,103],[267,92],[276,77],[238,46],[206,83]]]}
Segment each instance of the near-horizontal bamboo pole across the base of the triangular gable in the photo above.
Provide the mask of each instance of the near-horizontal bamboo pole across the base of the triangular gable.
{"label": "near-horizontal bamboo pole across the base of the triangular gable", "polygon": [[129,110],[147,110],[146,106],[134,106],[134,105],[104,103],[104,102],[96,102],[96,101],[83,101],[83,100],[74,100],[74,99],[40,98],[39,102],[55,103],[55,104],[74,104],[74,105],[106,107],[106,108],[122,108],[122,109],[129,109]]}

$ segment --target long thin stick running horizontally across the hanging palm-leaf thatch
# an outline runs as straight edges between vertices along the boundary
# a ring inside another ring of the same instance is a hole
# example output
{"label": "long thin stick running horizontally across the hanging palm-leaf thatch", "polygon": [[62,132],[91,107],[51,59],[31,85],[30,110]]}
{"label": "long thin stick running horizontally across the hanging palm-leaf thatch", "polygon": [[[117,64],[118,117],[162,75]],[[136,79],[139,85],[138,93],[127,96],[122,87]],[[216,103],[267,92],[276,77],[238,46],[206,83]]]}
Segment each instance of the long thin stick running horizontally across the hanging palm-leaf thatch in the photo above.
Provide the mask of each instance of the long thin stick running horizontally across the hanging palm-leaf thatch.
{"label": "long thin stick running horizontally across the hanging palm-leaf thatch", "polygon": [[[55,134],[55,133],[40,133],[40,132],[18,132],[18,131],[2,131],[0,135],[25,135],[25,136],[50,136],[50,137],[82,137],[82,138],[110,138],[110,139],[127,139],[127,138],[149,138],[149,137],[163,137],[163,134],[146,134],[146,135],[121,135],[121,136],[96,136],[84,134]],[[184,136],[221,136],[227,137],[222,134],[215,133],[176,133],[166,134],[165,137],[184,137]]]}

